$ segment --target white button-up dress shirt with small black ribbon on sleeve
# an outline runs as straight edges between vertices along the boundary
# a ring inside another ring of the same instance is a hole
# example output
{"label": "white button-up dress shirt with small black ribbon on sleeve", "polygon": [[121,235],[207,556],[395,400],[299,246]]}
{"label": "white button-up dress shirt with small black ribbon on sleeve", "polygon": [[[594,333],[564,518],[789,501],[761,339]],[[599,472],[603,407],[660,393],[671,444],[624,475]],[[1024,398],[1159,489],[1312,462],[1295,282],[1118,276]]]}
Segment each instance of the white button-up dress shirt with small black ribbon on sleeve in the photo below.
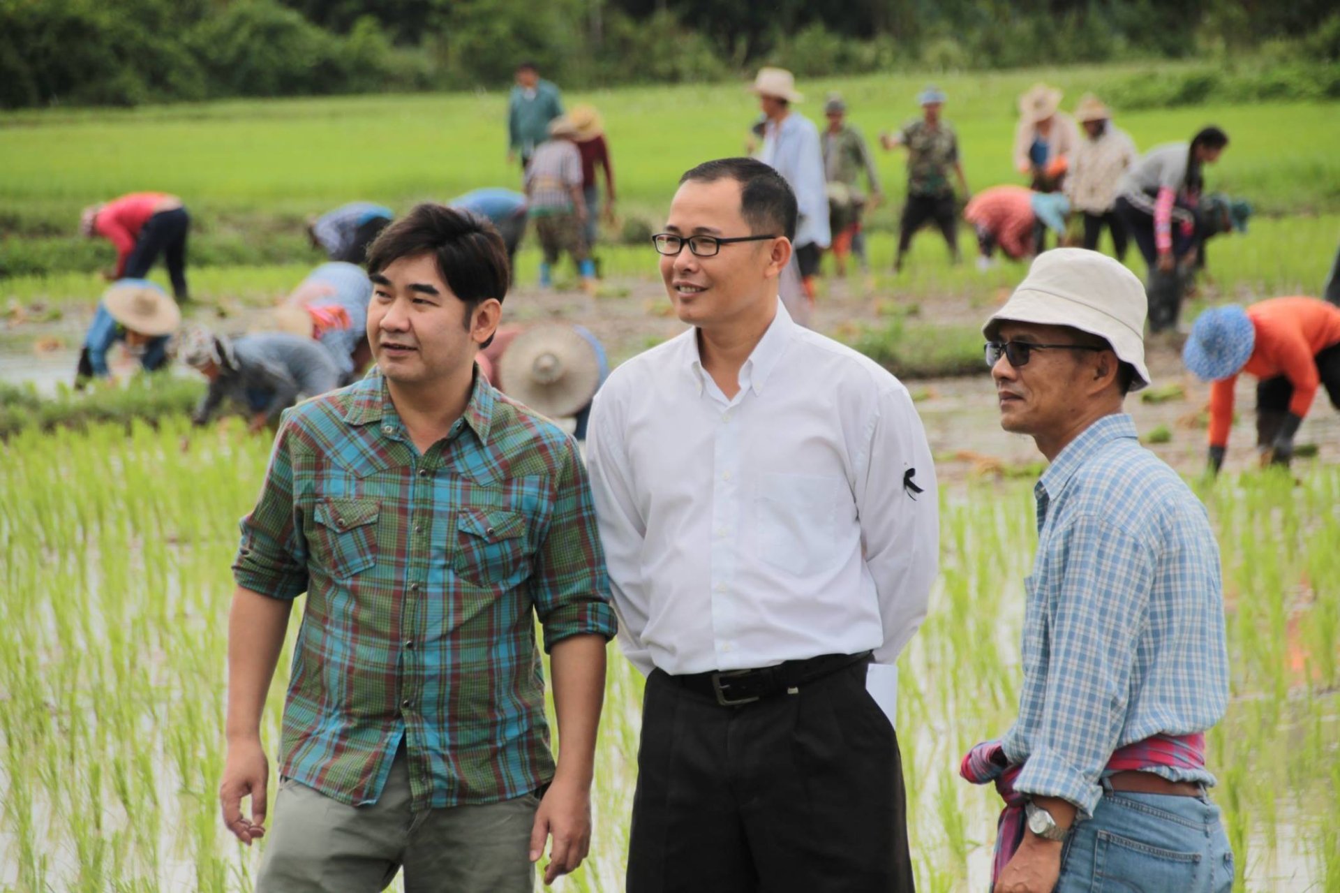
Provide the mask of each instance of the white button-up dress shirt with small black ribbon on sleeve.
{"label": "white button-up dress shirt with small black ribbon on sleeve", "polygon": [[939,532],[926,434],[888,371],[779,302],[733,398],[689,330],[614,370],[587,437],[619,640],[643,673],[867,649],[896,672]]}

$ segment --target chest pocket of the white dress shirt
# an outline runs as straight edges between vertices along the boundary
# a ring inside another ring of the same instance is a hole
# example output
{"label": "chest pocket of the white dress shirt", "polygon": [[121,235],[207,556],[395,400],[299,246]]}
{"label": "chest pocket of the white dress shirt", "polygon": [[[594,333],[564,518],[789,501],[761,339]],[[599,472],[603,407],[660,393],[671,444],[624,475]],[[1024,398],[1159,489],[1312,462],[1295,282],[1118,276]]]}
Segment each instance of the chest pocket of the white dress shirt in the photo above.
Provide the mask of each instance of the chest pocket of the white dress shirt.
{"label": "chest pocket of the white dress shirt", "polygon": [[844,477],[762,475],[754,500],[758,555],[789,574],[817,574],[840,563],[840,522],[854,512]]}

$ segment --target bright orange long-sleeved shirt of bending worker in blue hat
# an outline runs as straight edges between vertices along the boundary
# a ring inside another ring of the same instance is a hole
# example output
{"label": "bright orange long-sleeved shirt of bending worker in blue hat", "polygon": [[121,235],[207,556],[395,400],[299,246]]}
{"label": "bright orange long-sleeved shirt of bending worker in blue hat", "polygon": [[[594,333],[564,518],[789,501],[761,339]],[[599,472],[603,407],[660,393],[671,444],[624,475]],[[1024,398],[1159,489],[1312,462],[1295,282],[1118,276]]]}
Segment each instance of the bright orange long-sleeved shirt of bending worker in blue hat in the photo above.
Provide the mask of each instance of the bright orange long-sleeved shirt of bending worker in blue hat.
{"label": "bright orange long-sleeved shirt of bending worker in blue hat", "polygon": [[[1316,298],[1272,298],[1248,307],[1248,316],[1256,327],[1256,343],[1242,371],[1261,379],[1288,378],[1293,385],[1289,412],[1306,416],[1321,385],[1316,355],[1340,343],[1340,307]],[[1229,442],[1237,381],[1231,375],[1210,386],[1211,446]]]}

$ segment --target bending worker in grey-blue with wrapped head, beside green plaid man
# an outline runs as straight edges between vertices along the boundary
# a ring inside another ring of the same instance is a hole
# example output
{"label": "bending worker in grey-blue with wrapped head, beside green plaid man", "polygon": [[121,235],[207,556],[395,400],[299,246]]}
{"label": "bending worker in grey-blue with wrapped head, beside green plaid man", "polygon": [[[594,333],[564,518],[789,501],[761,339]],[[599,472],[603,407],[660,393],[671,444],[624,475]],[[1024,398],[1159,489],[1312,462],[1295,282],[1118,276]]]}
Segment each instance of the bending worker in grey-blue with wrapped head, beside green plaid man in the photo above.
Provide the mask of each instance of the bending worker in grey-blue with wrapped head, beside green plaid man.
{"label": "bending worker in grey-blue with wrapped head, beside green plaid man", "polygon": [[330,351],[311,338],[263,333],[228,338],[205,329],[186,333],[181,361],[209,379],[190,421],[209,422],[224,400],[249,413],[247,430],[256,433],[303,397],[339,388],[339,370]]}

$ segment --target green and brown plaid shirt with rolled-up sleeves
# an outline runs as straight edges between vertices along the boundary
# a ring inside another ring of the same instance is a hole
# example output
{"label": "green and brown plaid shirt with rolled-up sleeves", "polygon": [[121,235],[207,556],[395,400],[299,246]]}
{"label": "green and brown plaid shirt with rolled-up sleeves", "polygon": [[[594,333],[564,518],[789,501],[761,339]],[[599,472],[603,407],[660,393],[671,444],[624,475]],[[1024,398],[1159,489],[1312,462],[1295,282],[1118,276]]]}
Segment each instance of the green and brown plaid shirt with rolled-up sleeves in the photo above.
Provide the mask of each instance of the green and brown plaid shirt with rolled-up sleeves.
{"label": "green and brown plaid shirt with rolled-up sleeves", "polygon": [[241,522],[240,586],[307,593],[280,772],[374,803],[405,740],[414,809],[521,796],[553,776],[545,649],[615,633],[576,444],[482,377],[419,456],[385,379],[284,414]]}

